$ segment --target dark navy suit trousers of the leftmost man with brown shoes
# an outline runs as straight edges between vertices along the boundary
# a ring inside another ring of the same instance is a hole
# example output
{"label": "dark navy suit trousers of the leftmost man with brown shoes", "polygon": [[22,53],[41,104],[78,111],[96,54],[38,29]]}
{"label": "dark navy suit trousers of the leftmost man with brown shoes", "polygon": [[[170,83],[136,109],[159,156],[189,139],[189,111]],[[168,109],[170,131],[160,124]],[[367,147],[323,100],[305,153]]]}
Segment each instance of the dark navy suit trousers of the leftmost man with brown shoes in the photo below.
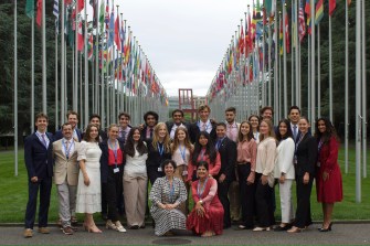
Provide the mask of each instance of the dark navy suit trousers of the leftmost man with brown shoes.
{"label": "dark navy suit trousers of the leftmost man with brown shoes", "polygon": [[27,203],[24,227],[33,229],[36,216],[38,194],[40,190],[39,227],[47,226],[50,206],[50,194],[52,190],[52,178],[40,179],[33,183],[29,180],[29,202]]}

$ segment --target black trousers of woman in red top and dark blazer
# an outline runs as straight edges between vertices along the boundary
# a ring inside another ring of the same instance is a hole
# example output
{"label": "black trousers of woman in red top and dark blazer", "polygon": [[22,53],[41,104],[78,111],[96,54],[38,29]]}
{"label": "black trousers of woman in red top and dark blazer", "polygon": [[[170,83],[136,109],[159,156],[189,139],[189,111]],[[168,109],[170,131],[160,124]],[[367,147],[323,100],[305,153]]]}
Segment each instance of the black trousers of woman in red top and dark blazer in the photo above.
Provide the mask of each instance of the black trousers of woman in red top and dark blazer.
{"label": "black trousers of woman in red top and dark blazer", "polygon": [[108,205],[108,220],[118,221],[117,204],[119,204],[123,194],[123,173],[124,167],[118,165],[119,172],[114,173],[115,165],[108,167],[107,183],[103,183],[102,190],[105,191]]}

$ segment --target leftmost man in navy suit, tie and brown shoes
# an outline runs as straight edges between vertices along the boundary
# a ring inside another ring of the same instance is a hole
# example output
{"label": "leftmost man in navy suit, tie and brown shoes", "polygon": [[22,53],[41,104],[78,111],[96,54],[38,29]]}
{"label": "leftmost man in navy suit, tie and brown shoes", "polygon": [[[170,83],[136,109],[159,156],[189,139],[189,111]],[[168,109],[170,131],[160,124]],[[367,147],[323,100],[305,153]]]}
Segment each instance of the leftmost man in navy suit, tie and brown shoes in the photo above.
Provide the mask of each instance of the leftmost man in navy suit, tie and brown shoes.
{"label": "leftmost man in navy suit, tie and brown shoes", "polygon": [[53,177],[53,136],[46,132],[49,124],[47,116],[40,113],[35,118],[38,130],[28,136],[24,141],[24,162],[29,181],[29,202],[25,210],[24,237],[33,236],[32,231],[36,214],[39,190],[39,233],[50,233],[47,228],[47,213]]}

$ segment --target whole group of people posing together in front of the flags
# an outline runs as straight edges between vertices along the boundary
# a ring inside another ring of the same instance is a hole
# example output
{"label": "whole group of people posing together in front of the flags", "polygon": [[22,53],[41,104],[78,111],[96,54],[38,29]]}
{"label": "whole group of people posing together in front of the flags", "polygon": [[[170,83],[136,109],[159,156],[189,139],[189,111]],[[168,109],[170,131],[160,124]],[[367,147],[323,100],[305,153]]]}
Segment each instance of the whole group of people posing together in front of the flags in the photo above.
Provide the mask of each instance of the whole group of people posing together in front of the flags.
{"label": "whole group of people posing together in front of the flags", "polygon": [[[296,106],[276,127],[272,107],[241,124],[233,107],[219,122],[210,119],[208,105],[198,113],[199,120],[188,124],[180,109],[167,122],[158,122],[158,114],[148,111],[145,124],[137,127],[129,125],[129,114],[121,113],[119,124],[107,131],[101,129],[101,117],[92,115],[82,132],[77,113],[70,111],[54,136],[46,132],[47,116],[36,115],[36,131],[24,142],[29,177],[24,237],[33,236],[39,190],[39,232],[50,233],[52,177],[66,235],[76,232],[76,213],[85,214],[83,227],[92,233],[102,233],[94,222],[97,212],[108,229],[126,232],[119,213],[126,215],[128,228],[145,228],[148,202],[157,236],[180,229],[204,237],[220,235],[233,221],[240,222],[239,229],[297,233],[311,224],[314,179],[324,213],[319,231],[331,231],[334,203],[342,200],[342,188],[339,140],[328,119],[319,118],[311,136],[308,119]],[[277,226],[275,186],[282,208]]]}

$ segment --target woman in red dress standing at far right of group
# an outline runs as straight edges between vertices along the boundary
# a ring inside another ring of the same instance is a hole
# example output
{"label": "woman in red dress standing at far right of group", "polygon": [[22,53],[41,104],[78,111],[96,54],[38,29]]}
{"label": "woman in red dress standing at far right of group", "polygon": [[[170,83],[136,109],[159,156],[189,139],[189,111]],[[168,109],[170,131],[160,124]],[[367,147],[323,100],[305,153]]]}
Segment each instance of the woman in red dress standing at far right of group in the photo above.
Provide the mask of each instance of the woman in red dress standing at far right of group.
{"label": "woman in red dress standing at far right of group", "polygon": [[323,203],[324,222],[319,232],[331,231],[334,203],[343,199],[341,173],[338,164],[339,140],[329,119],[316,122],[318,162],[316,174],[317,201]]}

